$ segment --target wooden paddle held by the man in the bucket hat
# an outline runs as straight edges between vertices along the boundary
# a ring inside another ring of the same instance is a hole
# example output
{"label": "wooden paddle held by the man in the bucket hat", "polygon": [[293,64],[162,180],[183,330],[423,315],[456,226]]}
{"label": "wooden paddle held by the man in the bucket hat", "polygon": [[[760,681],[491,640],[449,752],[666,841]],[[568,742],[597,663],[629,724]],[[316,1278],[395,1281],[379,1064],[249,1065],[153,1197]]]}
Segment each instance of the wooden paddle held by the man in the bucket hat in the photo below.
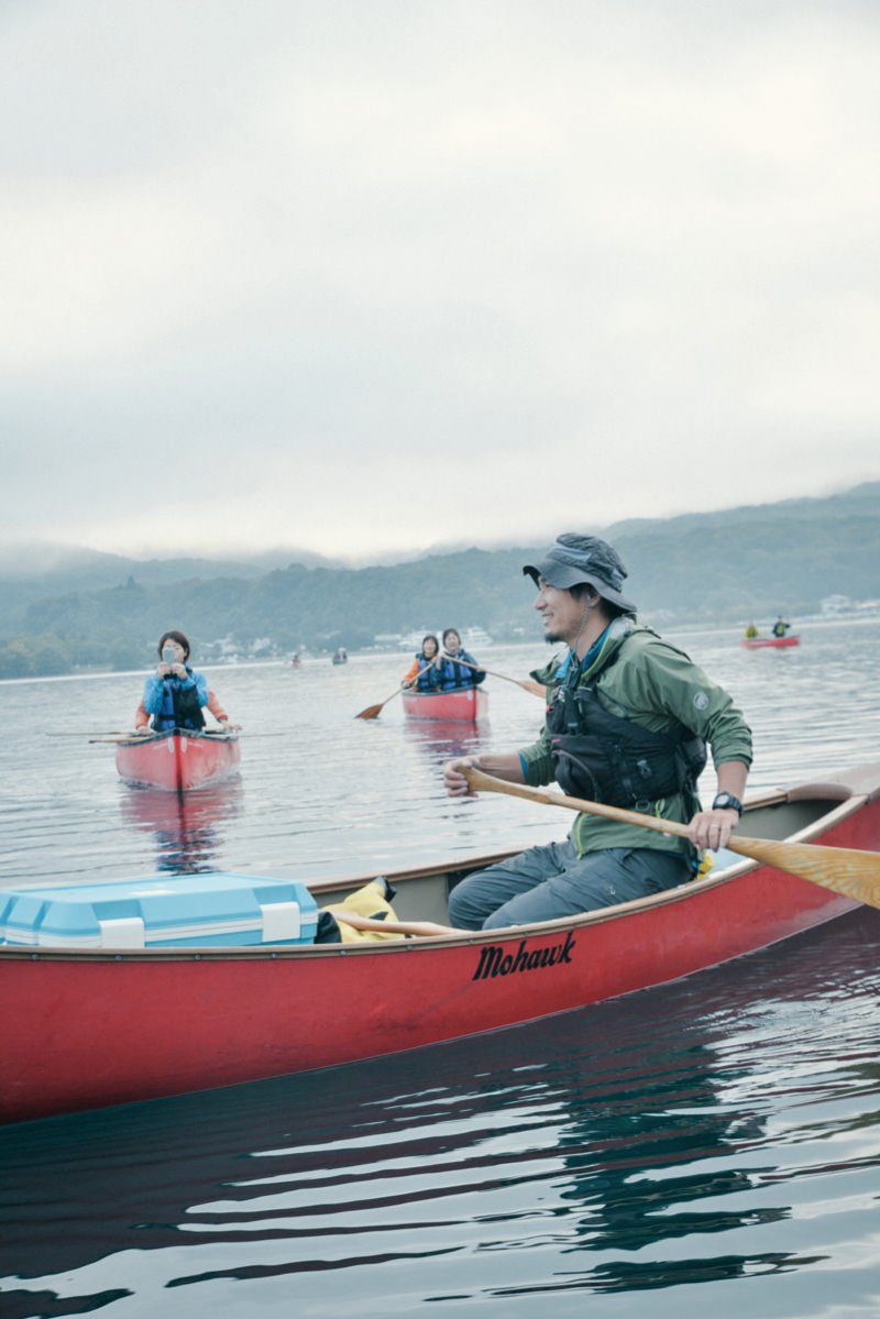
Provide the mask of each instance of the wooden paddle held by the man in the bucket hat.
{"label": "wooden paddle held by the man in the bucket hat", "polygon": [[[619,806],[602,806],[599,802],[582,801],[579,797],[566,797],[562,793],[548,791],[544,787],[528,787],[525,783],[507,783],[472,766],[463,770],[472,791],[507,793],[511,797],[524,797],[542,806],[567,806],[569,810],[584,815],[600,815],[603,819],[619,820],[621,824],[637,824],[654,830],[657,834],[674,834],[687,838],[687,826],[676,820],[654,819],[653,815],[640,815]],[[786,874],[797,874],[801,880],[819,884],[825,889],[843,893],[856,902],[880,907],[880,853],[860,852],[844,847],[823,847],[818,843],[782,843],[776,839],[740,838],[727,840],[727,849],[740,856],[748,856],[764,865],[773,865]]]}

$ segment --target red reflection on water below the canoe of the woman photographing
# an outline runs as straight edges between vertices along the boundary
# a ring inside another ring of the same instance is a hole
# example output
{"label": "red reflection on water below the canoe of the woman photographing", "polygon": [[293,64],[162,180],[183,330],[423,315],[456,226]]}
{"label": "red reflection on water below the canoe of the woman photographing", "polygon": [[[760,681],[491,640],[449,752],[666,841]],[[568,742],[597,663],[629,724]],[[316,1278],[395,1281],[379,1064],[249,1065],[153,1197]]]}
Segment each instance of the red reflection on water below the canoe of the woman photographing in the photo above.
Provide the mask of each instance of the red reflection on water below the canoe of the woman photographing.
{"label": "red reflection on water below the canoe of the woman photographing", "polygon": [[239,778],[194,793],[165,793],[158,787],[125,787],[120,810],[127,824],[154,834],[157,871],[197,874],[216,869],[218,826],[241,811]]}

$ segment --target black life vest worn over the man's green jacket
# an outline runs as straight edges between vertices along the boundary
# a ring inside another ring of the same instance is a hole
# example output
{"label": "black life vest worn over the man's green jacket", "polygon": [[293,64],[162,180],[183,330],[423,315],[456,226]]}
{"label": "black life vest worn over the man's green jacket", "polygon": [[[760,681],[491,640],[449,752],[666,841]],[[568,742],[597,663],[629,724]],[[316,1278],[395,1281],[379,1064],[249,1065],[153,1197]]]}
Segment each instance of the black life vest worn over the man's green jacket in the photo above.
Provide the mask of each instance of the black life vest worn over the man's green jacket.
{"label": "black life vest worn over the man's green jacket", "polygon": [[[613,661],[612,661],[613,662]],[[571,797],[646,811],[697,783],[706,743],[683,724],[652,732],[599,703],[596,683],[557,687],[548,707],[554,777]]]}

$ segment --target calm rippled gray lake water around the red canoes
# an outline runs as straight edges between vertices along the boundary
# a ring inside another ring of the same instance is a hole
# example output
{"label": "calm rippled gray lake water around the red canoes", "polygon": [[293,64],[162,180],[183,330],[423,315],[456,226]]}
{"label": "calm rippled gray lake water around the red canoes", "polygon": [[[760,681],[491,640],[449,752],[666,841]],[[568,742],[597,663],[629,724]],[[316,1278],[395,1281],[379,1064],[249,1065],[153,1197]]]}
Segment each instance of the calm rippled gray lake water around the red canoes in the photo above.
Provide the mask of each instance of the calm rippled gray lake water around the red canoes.
{"label": "calm rippled gray lake water around the red canoes", "polygon": [[[790,652],[674,637],[747,712],[752,787],[880,760],[880,621],[801,632]],[[480,658],[525,677],[545,656]],[[456,751],[532,740],[540,702],[489,678],[476,731],[408,725],[398,699],[354,719],[405,666],[210,671],[241,774],[183,807],[88,741],[128,727],[142,675],[0,683],[3,884],[307,882],[561,836],[562,811],[441,786]],[[5,1128],[0,1316],[876,1319],[879,951],[862,910],[550,1022]]]}

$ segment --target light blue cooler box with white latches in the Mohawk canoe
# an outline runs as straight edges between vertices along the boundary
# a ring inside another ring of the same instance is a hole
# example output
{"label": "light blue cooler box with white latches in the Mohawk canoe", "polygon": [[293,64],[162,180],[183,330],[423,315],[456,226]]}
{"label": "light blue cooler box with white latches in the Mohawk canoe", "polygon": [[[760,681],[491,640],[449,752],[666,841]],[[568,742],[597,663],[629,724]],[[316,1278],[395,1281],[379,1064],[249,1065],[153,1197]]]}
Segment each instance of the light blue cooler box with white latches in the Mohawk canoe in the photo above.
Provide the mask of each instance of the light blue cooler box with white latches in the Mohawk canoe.
{"label": "light blue cooler box with white latches in the Mohawk canoe", "polygon": [[255,874],[149,874],[0,889],[0,942],[34,948],[314,943],[303,884]]}

